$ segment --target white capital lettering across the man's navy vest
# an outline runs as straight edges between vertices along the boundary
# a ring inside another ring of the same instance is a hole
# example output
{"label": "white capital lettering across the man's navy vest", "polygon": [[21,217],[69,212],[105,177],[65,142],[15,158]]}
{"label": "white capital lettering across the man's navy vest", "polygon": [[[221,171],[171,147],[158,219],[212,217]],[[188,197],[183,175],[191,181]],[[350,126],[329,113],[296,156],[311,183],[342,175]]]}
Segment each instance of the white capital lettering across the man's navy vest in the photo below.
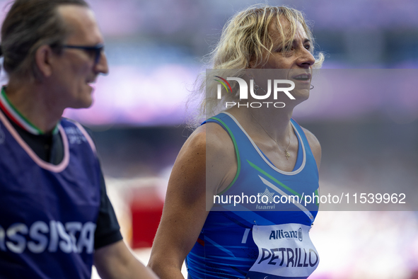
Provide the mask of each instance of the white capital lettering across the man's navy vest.
{"label": "white capital lettering across the man's navy vest", "polygon": [[[0,251],[11,251],[21,254],[28,251],[39,254],[44,251],[64,253],[93,254],[94,232],[96,224],[93,222],[62,222],[51,220],[37,221],[30,227],[23,223],[11,224],[4,229],[0,226]],[[77,239],[78,237],[78,239]]]}

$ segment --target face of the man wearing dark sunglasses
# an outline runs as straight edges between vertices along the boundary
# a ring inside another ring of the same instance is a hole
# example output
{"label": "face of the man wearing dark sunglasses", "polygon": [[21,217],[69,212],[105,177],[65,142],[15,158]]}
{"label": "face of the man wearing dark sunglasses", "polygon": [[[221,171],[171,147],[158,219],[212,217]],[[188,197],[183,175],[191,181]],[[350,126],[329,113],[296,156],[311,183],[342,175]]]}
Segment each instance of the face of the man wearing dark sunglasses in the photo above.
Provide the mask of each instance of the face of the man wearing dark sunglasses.
{"label": "face of the man wearing dark sunglasses", "polygon": [[[62,5],[58,8],[71,33],[64,45],[93,47],[103,44],[103,36],[90,8],[76,5]],[[88,108],[93,102],[91,84],[98,74],[108,73],[108,62],[104,52],[95,63],[91,50],[64,47],[57,55],[51,82],[54,106],[59,108]],[[58,94],[57,94],[58,93]],[[57,96],[58,95],[58,96]],[[55,98],[54,98],[55,97]]]}

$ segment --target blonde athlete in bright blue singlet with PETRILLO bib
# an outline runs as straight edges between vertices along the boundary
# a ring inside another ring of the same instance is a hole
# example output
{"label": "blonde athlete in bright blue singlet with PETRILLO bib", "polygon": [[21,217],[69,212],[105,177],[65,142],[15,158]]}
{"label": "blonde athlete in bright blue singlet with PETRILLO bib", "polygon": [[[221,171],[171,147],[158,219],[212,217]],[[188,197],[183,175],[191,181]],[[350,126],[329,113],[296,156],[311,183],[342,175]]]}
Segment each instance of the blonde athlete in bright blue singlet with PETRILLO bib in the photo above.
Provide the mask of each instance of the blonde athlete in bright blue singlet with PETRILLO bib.
{"label": "blonde athlete in bright blue singlet with PETRILLO bib", "polygon": [[[286,7],[250,7],[223,29],[212,54],[215,72],[238,69],[240,78],[259,86],[260,71],[284,69],[286,80],[298,90],[292,91],[294,100],[285,94],[277,97],[286,104],[283,108],[228,108],[187,139],[170,176],[151,252],[149,266],[161,278],[182,278],[184,260],[194,279],[308,278],[318,267],[318,252],[308,234],[318,204],[272,203],[274,197],[318,195],[320,144],[291,119],[294,107],[309,96],[313,67],[323,62],[322,54],[313,57],[313,45],[302,14]],[[214,115],[227,101],[244,101],[232,82],[233,93],[218,100],[218,81],[211,84],[213,79],[202,82],[204,113]],[[264,85],[260,87],[257,94],[264,94]],[[267,200],[234,205],[233,210],[212,200],[209,211],[205,204],[214,195],[260,195]]]}

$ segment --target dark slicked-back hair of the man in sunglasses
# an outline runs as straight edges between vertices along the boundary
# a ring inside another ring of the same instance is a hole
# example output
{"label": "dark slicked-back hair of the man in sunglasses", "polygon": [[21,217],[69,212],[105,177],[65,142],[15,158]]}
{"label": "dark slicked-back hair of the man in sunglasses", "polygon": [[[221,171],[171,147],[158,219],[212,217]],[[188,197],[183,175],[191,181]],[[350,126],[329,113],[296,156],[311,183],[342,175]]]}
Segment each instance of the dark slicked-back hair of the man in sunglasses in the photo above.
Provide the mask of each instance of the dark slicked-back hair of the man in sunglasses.
{"label": "dark slicked-back hair of the man in sunglasses", "polygon": [[41,80],[35,53],[50,45],[60,53],[69,29],[57,12],[61,5],[88,7],[84,0],[16,0],[1,26],[1,53],[9,76]]}

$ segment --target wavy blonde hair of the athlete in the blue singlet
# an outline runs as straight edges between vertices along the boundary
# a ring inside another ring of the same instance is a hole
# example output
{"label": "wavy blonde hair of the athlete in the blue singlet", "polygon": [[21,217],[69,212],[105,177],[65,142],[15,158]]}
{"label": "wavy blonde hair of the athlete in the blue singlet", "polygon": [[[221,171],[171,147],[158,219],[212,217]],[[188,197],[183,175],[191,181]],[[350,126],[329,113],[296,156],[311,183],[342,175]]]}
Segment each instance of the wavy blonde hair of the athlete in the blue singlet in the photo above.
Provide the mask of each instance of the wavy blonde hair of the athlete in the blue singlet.
{"label": "wavy blonde hair of the athlete in the blue singlet", "polygon": [[[281,19],[289,22],[289,28],[284,28]],[[231,94],[222,94],[218,99],[213,76],[243,76],[245,69],[259,67],[267,62],[272,53],[273,39],[268,32],[269,25],[277,24],[281,38],[282,51],[288,51],[294,40],[298,23],[305,30],[311,42],[310,52],[314,55],[315,40],[309,23],[303,13],[286,6],[254,5],[236,13],[223,27],[221,38],[209,53],[208,69],[210,74],[201,73],[195,82],[195,90],[190,100],[199,100],[198,112],[190,120],[189,127],[197,127],[204,118],[216,115],[225,109],[226,102],[239,101],[237,85],[231,83]],[[289,35],[290,34],[290,35]],[[267,55],[265,55],[267,50]],[[322,52],[315,55],[313,68],[320,68],[324,61]],[[250,65],[251,62],[251,65]]]}

